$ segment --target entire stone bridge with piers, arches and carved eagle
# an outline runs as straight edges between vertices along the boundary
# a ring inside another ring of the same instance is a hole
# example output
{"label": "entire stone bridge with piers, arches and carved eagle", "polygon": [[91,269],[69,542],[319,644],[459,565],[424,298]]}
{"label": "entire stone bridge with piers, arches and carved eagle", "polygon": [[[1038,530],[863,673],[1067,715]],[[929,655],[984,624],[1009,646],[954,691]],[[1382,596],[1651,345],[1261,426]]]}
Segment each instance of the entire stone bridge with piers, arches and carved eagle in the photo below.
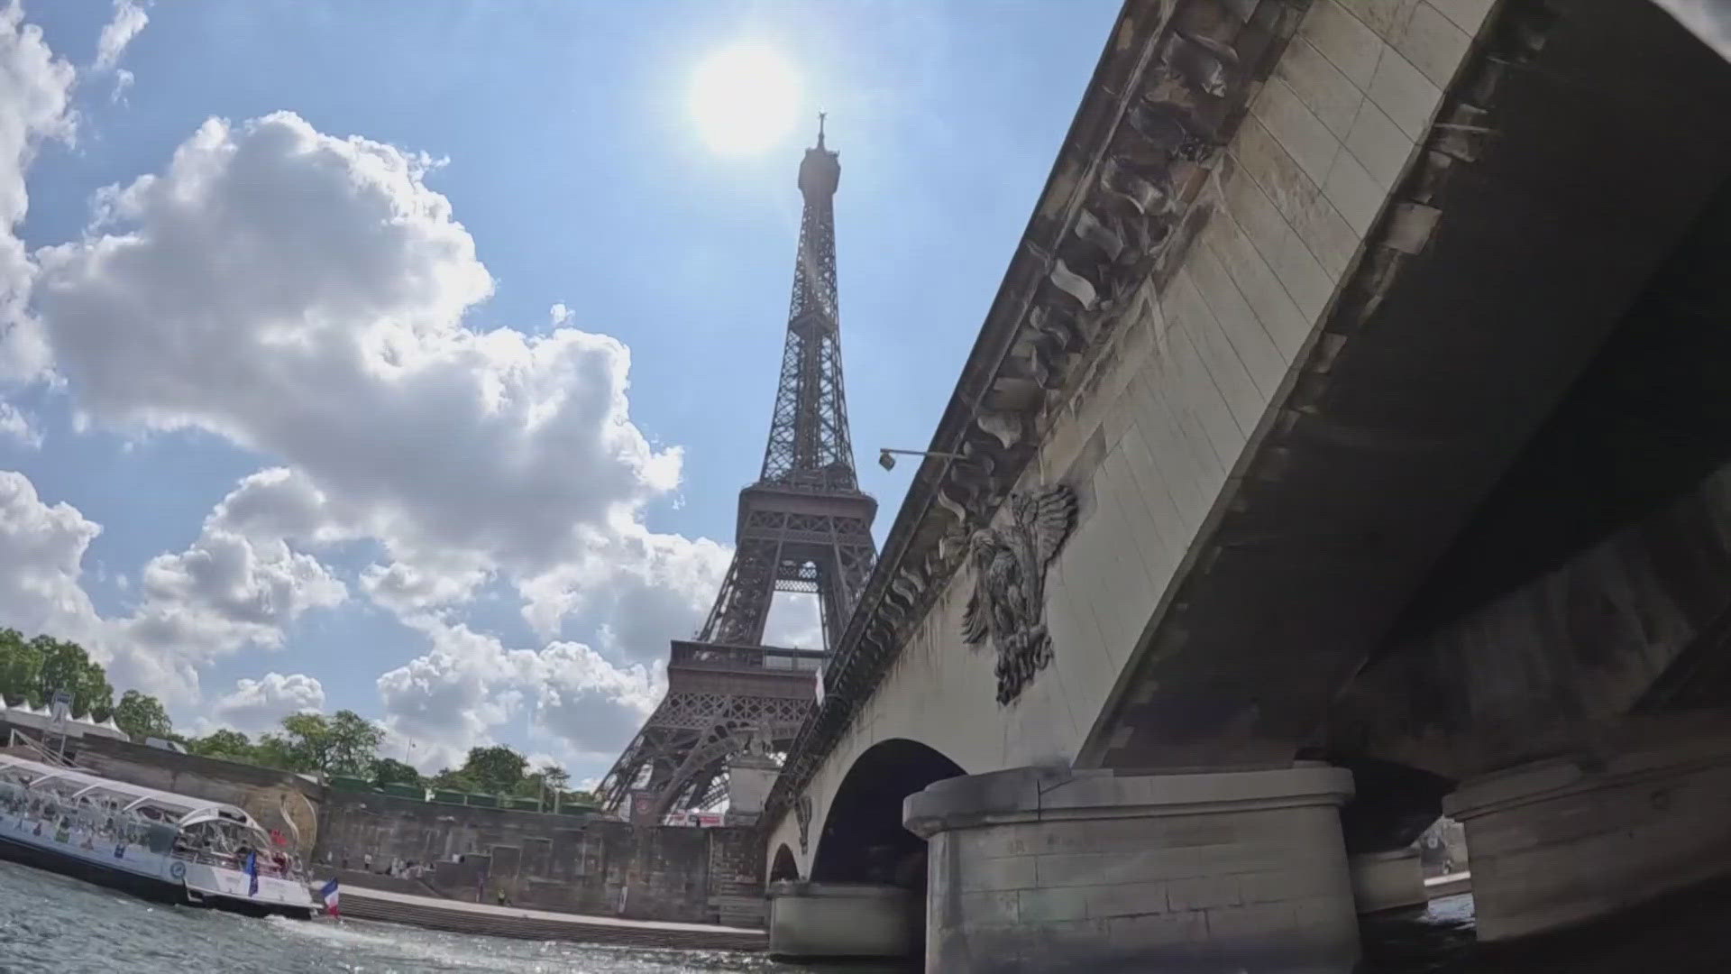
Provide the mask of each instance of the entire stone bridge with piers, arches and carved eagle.
{"label": "entire stone bridge with piers, arches and carved eagle", "polygon": [[1125,5],[770,794],[777,950],[1345,971],[1444,811],[1482,939],[1731,870],[1710,7]]}

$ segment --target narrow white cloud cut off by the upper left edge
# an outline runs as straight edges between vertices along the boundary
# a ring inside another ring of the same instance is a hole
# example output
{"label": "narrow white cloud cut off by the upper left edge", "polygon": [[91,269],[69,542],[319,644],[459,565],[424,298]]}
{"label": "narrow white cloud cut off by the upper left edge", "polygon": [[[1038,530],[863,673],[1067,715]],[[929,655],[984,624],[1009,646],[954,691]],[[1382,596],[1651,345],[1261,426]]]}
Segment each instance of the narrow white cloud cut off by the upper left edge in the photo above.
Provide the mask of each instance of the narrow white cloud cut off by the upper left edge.
{"label": "narrow white cloud cut off by the upper left edge", "polygon": [[36,374],[48,357],[42,329],[24,312],[35,269],[16,231],[29,210],[24,170],[36,149],[73,137],[74,76],[42,29],[24,24],[17,0],[0,7],[0,380]]}

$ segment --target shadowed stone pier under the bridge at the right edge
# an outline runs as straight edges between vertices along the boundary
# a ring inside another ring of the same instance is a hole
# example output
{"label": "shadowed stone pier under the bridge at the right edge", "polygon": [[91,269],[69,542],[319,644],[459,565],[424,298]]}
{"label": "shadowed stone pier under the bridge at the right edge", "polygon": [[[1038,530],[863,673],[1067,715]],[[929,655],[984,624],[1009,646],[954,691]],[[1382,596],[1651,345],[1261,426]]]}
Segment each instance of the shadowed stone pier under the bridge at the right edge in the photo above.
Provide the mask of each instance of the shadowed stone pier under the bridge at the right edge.
{"label": "shadowed stone pier under the bridge at the right edge", "polygon": [[1480,941],[1541,934],[1731,873],[1731,730],[1598,747],[1468,780]]}

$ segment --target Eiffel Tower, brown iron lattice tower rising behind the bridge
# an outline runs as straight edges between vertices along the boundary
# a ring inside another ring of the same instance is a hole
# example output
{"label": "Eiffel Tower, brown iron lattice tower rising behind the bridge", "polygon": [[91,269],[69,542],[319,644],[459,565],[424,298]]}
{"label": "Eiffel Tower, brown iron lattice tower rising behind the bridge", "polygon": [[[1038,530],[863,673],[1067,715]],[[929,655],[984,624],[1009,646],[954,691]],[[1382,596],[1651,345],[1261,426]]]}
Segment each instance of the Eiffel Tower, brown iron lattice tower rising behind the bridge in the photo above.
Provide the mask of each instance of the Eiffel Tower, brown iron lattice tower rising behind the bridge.
{"label": "Eiffel Tower, brown iron lattice tower rising behind the bridge", "polygon": [[[763,471],[739,492],[734,562],[703,629],[673,641],[666,697],[597,789],[608,811],[632,821],[715,808],[729,794],[729,764],[748,747],[774,766],[815,705],[817,669],[841,638],[878,556],[871,537],[878,501],[860,492],[853,473],[841,386],[840,180],[841,163],[824,147],[819,114],[817,147],[800,163],[805,213],[781,386]],[[824,650],[763,645],[777,591],[817,596]]]}

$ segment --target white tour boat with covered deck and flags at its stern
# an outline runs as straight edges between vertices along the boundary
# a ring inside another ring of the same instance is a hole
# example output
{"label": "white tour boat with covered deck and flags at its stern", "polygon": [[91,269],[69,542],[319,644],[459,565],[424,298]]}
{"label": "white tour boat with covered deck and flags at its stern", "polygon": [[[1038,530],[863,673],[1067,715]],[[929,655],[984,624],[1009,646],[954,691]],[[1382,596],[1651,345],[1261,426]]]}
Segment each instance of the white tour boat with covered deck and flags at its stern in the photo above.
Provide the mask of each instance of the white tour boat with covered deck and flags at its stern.
{"label": "white tour boat with covered deck and flags at its stern", "polygon": [[232,806],[0,754],[0,858],[151,899],[310,917],[306,873]]}

